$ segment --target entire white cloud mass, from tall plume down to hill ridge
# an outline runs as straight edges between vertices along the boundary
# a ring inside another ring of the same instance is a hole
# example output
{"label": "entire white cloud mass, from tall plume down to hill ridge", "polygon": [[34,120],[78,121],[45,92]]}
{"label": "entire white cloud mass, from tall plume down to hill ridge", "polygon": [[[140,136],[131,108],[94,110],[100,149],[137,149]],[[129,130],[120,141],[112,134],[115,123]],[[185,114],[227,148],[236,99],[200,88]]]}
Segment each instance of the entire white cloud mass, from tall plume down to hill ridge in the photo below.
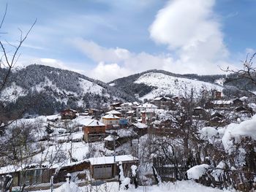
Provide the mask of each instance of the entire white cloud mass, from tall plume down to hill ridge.
{"label": "entire white cloud mass, from tall plume down to hill ridge", "polygon": [[148,69],[223,73],[219,67],[225,69],[230,63],[214,4],[214,0],[172,0],[160,9],[149,32],[155,42],[167,45],[167,53],[161,55],[106,48],[86,39],[74,39],[72,44],[99,63],[93,71],[103,81]]}

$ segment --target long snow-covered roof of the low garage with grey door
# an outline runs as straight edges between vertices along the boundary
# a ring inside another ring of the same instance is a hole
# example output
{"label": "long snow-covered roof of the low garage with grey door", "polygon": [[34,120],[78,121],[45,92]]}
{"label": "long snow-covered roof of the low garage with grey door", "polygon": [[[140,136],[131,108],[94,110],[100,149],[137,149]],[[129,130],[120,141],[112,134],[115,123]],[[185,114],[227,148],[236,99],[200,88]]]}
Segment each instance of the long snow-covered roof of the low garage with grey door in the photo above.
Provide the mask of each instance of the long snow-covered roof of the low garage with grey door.
{"label": "long snow-covered roof of the low garage with grey door", "polygon": [[89,158],[91,165],[103,165],[103,164],[116,164],[118,162],[125,161],[138,161],[138,158],[135,158],[132,155],[116,155],[116,161],[114,161],[114,156],[106,156],[99,158]]}

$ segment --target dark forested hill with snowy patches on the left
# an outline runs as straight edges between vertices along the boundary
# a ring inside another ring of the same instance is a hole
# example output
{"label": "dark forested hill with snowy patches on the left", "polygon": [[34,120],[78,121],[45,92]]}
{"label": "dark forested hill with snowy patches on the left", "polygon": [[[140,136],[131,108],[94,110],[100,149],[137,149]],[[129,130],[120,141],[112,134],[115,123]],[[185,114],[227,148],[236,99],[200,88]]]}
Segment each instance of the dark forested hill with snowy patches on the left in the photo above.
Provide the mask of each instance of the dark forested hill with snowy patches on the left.
{"label": "dark forested hill with snowy patches on the left", "polygon": [[7,110],[24,110],[34,115],[49,115],[71,107],[106,107],[111,101],[135,101],[110,85],[83,74],[50,66],[31,65],[12,73],[1,101]]}

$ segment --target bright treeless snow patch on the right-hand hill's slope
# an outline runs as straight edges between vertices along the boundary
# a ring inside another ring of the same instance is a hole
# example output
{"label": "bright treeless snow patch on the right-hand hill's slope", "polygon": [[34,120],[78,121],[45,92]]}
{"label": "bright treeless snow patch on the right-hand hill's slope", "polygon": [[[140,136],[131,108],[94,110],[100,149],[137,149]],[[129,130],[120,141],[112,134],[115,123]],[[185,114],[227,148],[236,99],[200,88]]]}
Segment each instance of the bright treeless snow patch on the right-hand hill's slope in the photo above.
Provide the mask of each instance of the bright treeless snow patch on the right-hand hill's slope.
{"label": "bright treeless snow patch on the right-hand hill's slope", "polygon": [[[199,80],[190,80],[182,77],[173,77],[167,74],[150,72],[143,74],[135,81],[135,83],[144,83],[148,86],[157,87],[150,93],[142,96],[140,99],[154,99],[159,95],[173,94],[176,96],[184,96],[184,93],[188,91],[190,93],[191,88],[195,88],[196,93],[200,93],[202,90],[216,89],[222,91],[220,85],[214,85],[209,82],[203,82]],[[196,94],[195,94],[196,96]]]}

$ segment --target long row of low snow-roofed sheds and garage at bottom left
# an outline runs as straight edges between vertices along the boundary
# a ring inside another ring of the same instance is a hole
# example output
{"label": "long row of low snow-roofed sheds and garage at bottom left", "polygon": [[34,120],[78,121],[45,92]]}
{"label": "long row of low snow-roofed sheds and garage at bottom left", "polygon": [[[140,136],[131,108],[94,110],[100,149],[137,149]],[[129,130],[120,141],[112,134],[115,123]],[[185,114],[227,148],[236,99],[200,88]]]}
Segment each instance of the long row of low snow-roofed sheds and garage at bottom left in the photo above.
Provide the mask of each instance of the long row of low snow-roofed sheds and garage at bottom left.
{"label": "long row of low snow-roofed sheds and garage at bottom left", "polygon": [[[48,167],[47,165],[31,164],[29,166],[4,166],[0,167],[0,183],[7,174],[12,176],[12,186],[23,186],[26,184],[25,191],[40,191],[50,189],[50,180],[53,176],[53,183],[63,183],[66,181],[67,174],[73,178],[86,182],[86,172],[91,173],[95,180],[110,179],[116,177],[120,170],[118,163],[122,162],[124,176],[128,177],[132,165],[138,165],[138,158],[132,155],[116,155],[100,158],[88,158],[83,161],[60,166],[56,164]],[[58,169],[58,172],[56,170]],[[42,185],[39,185],[42,184]]]}

